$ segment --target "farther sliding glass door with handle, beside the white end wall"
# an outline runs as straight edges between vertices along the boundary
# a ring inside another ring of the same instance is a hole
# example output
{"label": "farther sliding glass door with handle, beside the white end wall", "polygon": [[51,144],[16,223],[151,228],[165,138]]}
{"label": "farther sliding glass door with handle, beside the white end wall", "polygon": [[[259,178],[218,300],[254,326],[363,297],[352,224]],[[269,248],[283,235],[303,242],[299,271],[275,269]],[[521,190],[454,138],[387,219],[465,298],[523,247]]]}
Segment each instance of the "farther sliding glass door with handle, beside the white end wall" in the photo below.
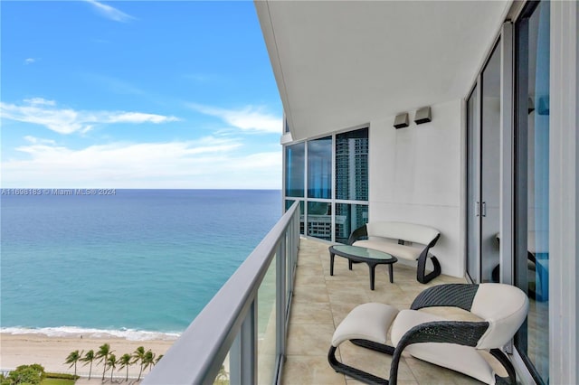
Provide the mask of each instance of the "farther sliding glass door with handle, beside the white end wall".
{"label": "farther sliding glass door with handle, beside the white end wall", "polygon": [[467,100],[467,271],[473,282],[498,281],[500,55],[498,42]]}

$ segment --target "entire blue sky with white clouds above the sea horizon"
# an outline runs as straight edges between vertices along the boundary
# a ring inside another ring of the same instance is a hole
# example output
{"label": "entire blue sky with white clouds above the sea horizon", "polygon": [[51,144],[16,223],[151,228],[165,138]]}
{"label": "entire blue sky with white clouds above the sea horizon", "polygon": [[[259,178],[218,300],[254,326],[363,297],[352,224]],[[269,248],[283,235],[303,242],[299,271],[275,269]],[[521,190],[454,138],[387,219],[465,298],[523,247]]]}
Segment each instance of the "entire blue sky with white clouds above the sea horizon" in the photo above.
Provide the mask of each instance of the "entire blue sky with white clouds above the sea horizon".
{"label": "entire blue sky with white clouds above the sea horizon", "polygon": [[281,185],[252,2],[6,2],[2,187]]}

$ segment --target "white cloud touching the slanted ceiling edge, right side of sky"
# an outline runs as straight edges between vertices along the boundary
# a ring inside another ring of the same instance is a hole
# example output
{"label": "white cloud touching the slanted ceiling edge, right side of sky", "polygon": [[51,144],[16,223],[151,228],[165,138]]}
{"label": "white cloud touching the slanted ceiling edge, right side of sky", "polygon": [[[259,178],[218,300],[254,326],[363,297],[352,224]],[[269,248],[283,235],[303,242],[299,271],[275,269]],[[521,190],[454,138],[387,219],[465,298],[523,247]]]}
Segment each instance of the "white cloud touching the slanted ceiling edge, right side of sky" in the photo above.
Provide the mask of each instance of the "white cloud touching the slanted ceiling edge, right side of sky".
{"label": "white cloud touching the slanted ceiling edge, right side of sky", "polygon": [[213,117],[220,117],[233,127],[243,131],[281,134],[282,119],[261,112],[261,108],[246,107],[242,109],[224,109],[190,103],[195,111]]}

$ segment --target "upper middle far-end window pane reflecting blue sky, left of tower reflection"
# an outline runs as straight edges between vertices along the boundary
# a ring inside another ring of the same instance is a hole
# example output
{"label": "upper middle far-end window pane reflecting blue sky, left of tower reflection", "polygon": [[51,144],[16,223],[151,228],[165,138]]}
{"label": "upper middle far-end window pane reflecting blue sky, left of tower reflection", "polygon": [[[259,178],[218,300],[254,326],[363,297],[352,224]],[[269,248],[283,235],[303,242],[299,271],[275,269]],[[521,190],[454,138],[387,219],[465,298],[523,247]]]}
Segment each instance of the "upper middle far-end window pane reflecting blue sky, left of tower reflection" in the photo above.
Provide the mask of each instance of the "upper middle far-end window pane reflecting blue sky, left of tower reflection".
{"label": "upper middle far-end window pane reflecting blue sky, left of tower reflection", "polygon": [[308,142],[308,198],[332,197],[332,136]]}

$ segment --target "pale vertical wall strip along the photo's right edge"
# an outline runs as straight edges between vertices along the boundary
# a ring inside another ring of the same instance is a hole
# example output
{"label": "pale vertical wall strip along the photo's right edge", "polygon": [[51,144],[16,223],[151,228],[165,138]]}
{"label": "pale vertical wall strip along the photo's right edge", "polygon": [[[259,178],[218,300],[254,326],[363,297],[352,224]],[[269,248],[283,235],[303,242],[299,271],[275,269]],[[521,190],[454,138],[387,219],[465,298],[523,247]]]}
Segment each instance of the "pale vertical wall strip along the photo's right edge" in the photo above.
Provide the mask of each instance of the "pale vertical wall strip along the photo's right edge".
{"label": "pale vertical wall strip along the photo's right edge", "polygon": [[549,381],[579,383],[579,4],[551,2]]}

